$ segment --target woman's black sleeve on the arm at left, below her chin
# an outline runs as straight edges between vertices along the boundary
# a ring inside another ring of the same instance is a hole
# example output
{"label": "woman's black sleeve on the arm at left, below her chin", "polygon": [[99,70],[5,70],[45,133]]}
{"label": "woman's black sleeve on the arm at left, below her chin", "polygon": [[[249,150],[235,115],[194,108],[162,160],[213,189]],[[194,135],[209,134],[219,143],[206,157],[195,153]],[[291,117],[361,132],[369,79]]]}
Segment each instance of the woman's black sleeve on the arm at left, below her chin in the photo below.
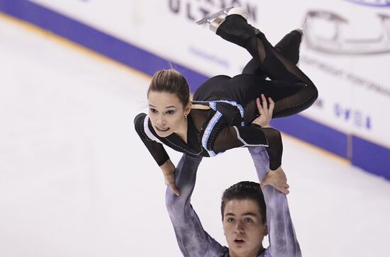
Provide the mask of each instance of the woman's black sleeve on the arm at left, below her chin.
{"label": "woman's black sleeve on the arm at left, below her chin", "polygon": [[147,137],[144,129],[145,116],[146,116],[145,113],[140,113],[135,117],[134,119],[135,131],[140,136],[140,139],[145,144],[147,150],[149,150],[150,154],[152,154],[152,157],[153,159],[155,159],[158,166],[162,166],[162,164],[165,164],[165,162],[169,160],[169,156],[161,143],[156,142],[150,139],[149,137]]}

